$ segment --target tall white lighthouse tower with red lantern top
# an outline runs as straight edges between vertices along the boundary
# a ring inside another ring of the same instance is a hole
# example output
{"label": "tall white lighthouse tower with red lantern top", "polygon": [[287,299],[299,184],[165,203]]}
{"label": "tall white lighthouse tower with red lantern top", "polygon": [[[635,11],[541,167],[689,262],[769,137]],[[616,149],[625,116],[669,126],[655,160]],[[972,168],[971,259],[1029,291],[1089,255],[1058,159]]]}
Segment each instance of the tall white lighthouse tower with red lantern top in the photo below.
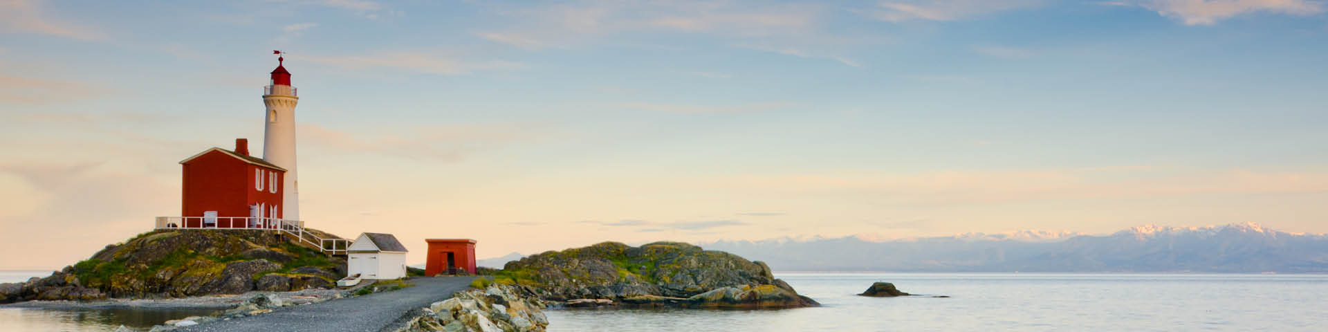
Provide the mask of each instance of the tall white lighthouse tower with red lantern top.
{"label": "tall white lighthouse tower with red lantern top", "polygon": [[[274,52],[279,53],[279,52]],[[283,57],[276,58],[270,85],[263,89],[263,105],[267,105],[267,127],[263,130],[263,159],[286,169],[282,183],[282,219],[300,219],[300,181],[295,170],[295,104],[300,97],[291,86],[291,72],[286,70]]]}

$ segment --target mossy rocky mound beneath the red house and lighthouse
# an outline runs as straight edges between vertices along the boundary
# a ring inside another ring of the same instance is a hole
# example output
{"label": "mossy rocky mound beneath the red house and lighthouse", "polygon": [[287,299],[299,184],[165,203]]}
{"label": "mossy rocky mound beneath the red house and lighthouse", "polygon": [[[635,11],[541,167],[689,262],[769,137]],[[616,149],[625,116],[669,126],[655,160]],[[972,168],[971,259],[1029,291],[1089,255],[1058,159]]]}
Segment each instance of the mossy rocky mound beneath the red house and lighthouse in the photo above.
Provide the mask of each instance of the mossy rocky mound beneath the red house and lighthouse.
{"label": "mossy rocky mound beneath the red house and lighthouse", "polygon": [[0,303],[299,291],[331,286],[344,266],[266,231],[161,230],[50,276],[0,284]]}

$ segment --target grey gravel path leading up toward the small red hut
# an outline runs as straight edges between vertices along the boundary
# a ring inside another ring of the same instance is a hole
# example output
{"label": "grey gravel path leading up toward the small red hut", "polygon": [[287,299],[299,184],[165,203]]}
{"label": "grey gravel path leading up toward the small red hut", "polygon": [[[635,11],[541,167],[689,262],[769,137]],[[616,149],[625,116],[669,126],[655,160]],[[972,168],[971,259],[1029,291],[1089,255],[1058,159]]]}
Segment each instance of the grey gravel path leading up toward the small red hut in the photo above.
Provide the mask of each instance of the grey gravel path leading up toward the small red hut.
{"label": "grey gravel path leading up toward the small red hut", "polygon": [[473,276],[416,278],[398,291],[287,307],[270,313],[198,324],[175,331],[382,331],[410,309],[452,297]]}

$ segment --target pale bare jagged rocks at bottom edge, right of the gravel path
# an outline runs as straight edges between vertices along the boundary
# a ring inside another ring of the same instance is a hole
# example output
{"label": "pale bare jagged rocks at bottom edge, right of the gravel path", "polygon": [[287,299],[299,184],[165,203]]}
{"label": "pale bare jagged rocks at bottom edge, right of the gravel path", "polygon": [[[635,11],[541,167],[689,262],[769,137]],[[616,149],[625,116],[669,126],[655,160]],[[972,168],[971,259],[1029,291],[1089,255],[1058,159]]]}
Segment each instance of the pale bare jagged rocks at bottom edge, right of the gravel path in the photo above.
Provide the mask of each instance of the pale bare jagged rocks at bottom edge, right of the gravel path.
{"label": "pale bare jagged rocks at bottom edge, right of the gravel path", "polygon": [[494,284],[433,303],[401,331],[540,332],[548,325],[542,308],[544,304],[527,290]]}

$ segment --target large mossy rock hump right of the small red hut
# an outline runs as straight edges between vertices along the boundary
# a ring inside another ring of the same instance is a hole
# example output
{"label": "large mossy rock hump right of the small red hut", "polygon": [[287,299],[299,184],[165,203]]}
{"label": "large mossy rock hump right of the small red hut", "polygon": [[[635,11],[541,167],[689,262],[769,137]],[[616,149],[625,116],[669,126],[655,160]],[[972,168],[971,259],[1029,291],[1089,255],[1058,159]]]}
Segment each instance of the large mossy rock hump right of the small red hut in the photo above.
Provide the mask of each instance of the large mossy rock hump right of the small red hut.
{"label": "large mossy rock hump right of the small red hut", "polygon": [[[656,242],[640,247],[606,242],[583,248],[550,251],[509,262],[495,283],[529,287],[544,300],[582,305],[578,299],[604,299],[637,307],[809,307],[770,267],[722,251]],[[693,296],[721,291],[728,297]],[[703,304],[706,303],[706,304]],[[738,304],[745,303],[745,304]],[[590,305],[590,304],[587,304]],[[603,305],[595,301],[594,305]]]}

